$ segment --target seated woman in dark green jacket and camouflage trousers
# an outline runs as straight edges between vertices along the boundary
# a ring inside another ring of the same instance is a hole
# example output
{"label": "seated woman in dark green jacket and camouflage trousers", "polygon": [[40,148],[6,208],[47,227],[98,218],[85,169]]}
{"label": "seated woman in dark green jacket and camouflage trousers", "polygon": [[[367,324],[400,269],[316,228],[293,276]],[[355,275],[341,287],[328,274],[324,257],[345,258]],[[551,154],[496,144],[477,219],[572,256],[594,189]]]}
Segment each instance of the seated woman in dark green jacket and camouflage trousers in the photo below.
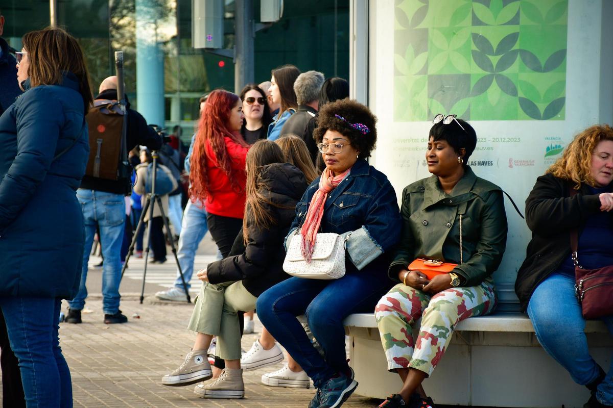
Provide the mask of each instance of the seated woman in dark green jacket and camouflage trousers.
{"label": "seated woman in dark green jacket and camouflage trousers", "polygon": [[[401,390],[379,406],[384,408],[433,407],[421,384],[443,357],[455,325],[496,306],[492,273],[502,260],[507,232],[502,190],[468,166],[477,143],[471,125],[442,114],[433,123],[425,154],[432,176],[402,193],[402,235],[388,270],[400,283],[375,309],[387,369],[403,380]],[[428,279],[420,270],[408,270],[416,258],[457,265]]]}

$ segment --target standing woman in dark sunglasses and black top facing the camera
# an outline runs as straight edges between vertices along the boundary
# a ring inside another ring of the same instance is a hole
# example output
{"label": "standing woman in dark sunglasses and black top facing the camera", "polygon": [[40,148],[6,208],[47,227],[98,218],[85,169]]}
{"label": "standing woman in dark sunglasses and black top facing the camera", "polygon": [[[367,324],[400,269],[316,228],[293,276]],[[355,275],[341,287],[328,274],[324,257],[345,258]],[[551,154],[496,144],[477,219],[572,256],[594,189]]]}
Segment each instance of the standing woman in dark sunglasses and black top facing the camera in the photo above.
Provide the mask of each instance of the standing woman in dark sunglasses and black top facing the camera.
{"label": "standing woman in dark sunglasses and black top facing the camera", "polygon": [[268,125],[272,122],[266,94],[256,84],[248,84],[240,92],[240,100],[243,101],[245,115],[245,121],[240,128],[243,139],[249,144],[265,139]]}

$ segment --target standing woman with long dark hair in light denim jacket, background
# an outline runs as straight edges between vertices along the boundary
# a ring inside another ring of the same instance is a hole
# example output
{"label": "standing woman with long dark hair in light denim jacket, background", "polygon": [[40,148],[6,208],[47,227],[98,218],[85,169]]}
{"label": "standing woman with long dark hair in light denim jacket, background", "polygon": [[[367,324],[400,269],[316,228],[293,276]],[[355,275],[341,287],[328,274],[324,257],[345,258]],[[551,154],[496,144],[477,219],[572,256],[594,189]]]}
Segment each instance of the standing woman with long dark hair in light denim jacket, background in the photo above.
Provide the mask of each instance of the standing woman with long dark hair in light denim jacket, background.
{"label": "standing woman with long dark hair in light denim jacket, background", "polygon": [[300,75],[300,70],[289,64],[272,70],[268,93],[273,103],[280,104],[279,113],[273,118],[275,121],[268,125],[268,139],[272,141],[281,135],[283,125],[298,109],[294,92],[294,82],[298,75]]}

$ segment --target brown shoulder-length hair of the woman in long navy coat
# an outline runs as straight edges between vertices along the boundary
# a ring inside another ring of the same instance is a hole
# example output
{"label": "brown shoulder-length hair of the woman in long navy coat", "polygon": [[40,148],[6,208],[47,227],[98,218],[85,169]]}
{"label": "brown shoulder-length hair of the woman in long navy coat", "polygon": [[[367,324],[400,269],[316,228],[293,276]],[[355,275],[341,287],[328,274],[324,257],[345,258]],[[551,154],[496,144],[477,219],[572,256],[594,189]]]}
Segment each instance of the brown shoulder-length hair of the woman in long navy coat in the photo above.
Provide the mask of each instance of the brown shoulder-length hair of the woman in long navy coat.
{"label": "brown shoulder-length hair of the woman in long navy coat", "polygon": [[87,114],[94,97],[89,87],[85,56],[77,39],[61,28],[47,27],[26,33],[21,42],[28,51],[31,87],[61,84],[64,72],[70,72],[77,77],[83,113]]}

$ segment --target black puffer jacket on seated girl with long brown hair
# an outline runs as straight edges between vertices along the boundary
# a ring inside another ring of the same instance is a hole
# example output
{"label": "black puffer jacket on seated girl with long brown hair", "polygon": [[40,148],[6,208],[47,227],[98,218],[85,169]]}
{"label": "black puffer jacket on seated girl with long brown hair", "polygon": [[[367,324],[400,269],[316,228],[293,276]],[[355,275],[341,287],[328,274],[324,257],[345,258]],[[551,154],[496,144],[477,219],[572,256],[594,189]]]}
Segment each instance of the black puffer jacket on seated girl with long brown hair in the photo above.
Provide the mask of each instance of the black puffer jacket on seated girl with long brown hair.
{"label": "black puffer jacket on seated girl with long brown hair", "polygon": [[[268,165],[260,177],[268,186],[268,189],[261,190],[262,193],[275,203],[275,206],[268,207],[275,224],[270,228],[258,228],[249,221],[249,210],[247,210],[245,217],[249,240],[245,251],[215,261],[207,267],[210,283],[242,280],[245,289],[255,297],[289,278],[289,275],[283,272],[285,259],[283,240],[294,220],[296,204],[308,186],[302,172],[289,163]],[[237,237],[238,239],[240,238]],[[235,247],[236,243],[233,248]]]}

